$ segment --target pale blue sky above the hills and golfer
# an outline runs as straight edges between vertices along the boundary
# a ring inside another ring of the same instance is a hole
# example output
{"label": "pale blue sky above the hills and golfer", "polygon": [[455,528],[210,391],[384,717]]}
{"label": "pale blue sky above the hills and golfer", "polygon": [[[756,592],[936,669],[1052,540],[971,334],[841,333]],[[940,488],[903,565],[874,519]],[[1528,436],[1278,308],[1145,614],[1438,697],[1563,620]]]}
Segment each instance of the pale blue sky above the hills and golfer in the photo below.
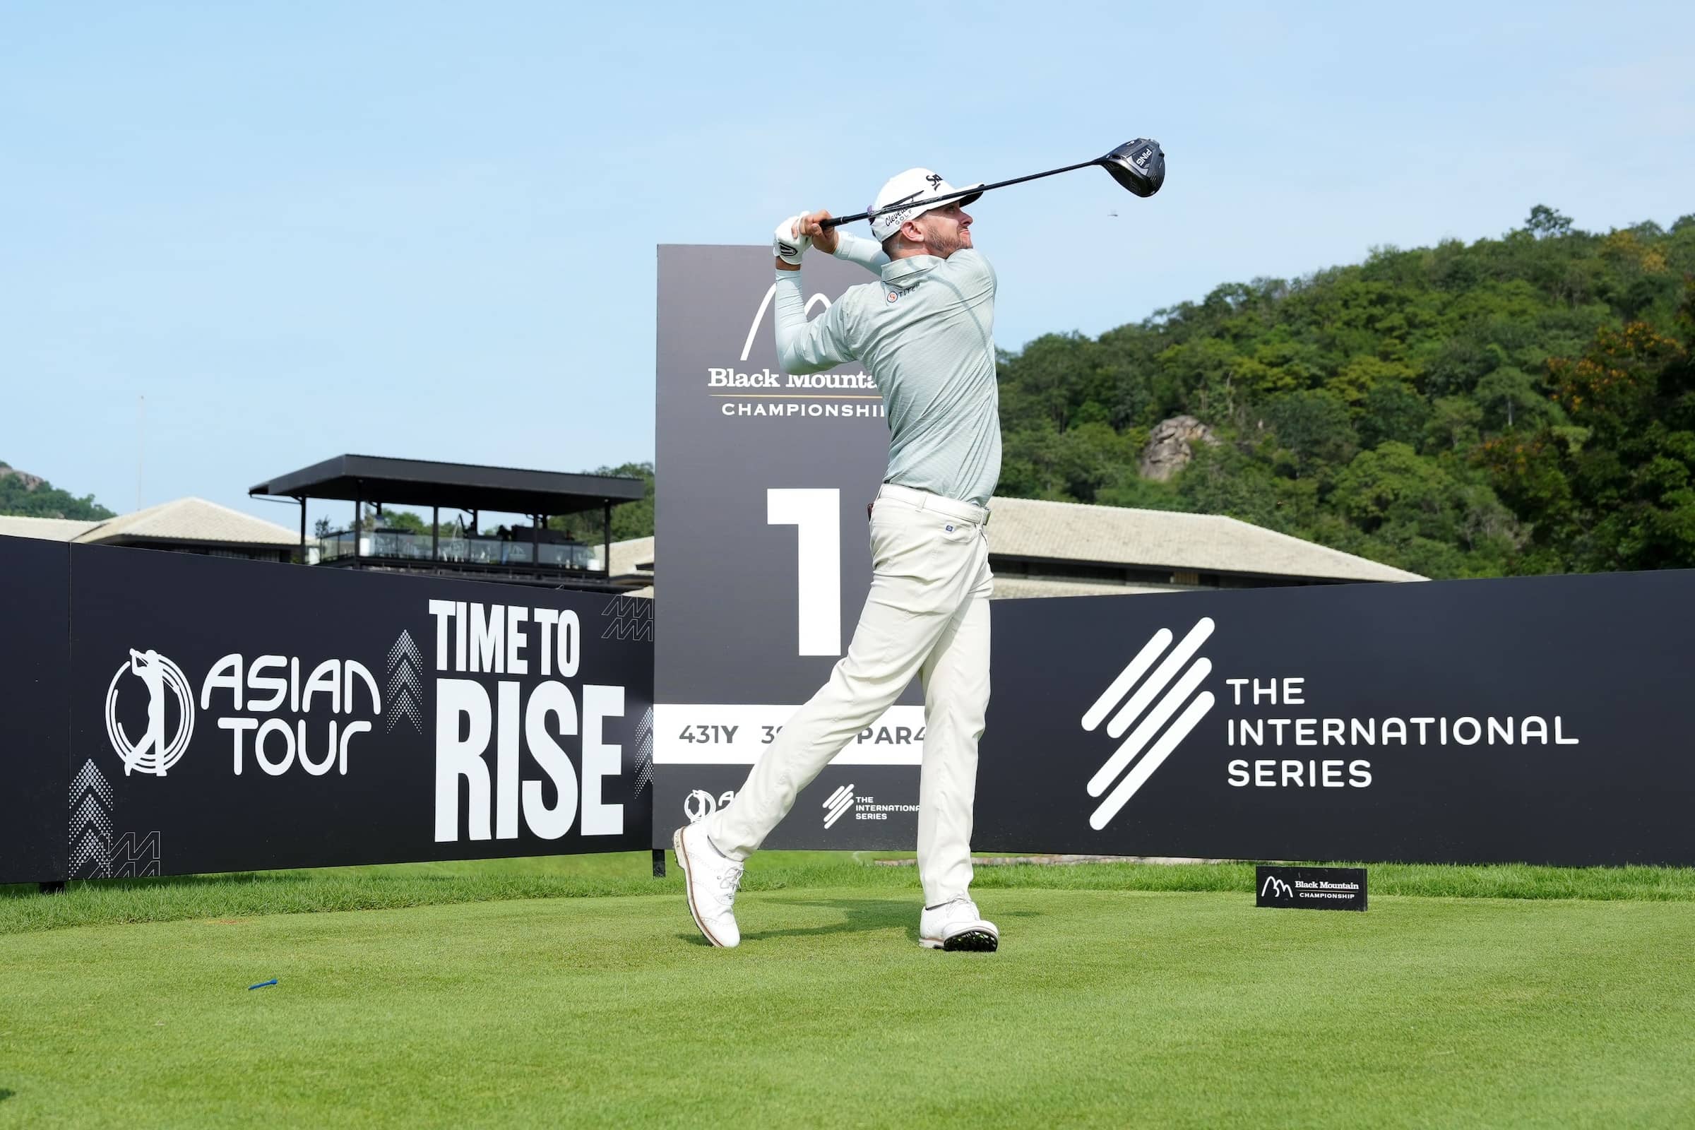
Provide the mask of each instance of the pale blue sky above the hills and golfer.
{"label": "pale blue sky above the hills and golfer", "polygon": [[1687,3],[8,3],[0,459],[131,510],[144,395],[142,505],[285,525],[246,488],[339,452],[651,459],[654,246],[912,164],[1164,144],[1153,200],[973,208],[1010,349],[1534,203],[1670,225],[1690,44]]}

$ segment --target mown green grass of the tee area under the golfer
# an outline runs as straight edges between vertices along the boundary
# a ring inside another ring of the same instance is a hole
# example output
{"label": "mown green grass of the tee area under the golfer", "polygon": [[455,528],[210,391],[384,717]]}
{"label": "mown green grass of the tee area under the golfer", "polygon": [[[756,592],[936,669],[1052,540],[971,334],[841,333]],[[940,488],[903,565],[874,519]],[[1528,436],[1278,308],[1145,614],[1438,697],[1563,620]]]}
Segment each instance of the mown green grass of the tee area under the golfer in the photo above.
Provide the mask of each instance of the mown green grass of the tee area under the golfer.
{"label": "mown green grass of the tee area under the golfer", "polygon": [[[997,867],[980,956],[915,944],[912,867],[756,857],[737,950],[644,869],[14,888],[0,1127],[1695,1125],[1687,871],[1373,867],[1358,915],[1256,910],[1242,864]],[[1385,891],[1420,884],[1531,896]]]}

